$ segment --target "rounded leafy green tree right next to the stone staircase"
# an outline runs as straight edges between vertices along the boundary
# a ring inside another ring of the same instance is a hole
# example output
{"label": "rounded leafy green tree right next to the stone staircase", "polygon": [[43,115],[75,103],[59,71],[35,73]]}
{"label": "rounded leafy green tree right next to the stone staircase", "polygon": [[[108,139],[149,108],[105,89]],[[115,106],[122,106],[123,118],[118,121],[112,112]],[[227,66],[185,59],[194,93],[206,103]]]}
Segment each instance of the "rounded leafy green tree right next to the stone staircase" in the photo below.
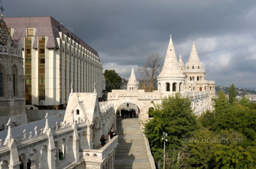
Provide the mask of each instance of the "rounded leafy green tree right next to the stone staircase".
{"label": "rounded leafy green tree right next to the stone staircase", "polygon": [[180,93],[162,98],[162,103],[150,111],[153,118],[144,123],[144,133],[149,140],[155,161],[163,156],[163,132],[168,133],[166,149],[179,149],[182,139],[189,138],[196,130],[196,116],[191,108],[189,98]]}

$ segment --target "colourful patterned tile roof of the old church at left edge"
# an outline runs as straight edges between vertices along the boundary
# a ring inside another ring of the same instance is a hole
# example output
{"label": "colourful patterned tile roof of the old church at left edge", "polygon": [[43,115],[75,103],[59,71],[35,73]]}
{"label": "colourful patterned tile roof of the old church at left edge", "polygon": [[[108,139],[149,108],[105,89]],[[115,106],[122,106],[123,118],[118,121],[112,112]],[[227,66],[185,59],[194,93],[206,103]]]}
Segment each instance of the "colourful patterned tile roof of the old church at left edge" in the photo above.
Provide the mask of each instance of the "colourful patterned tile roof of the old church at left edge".
{"label": "colourful patterned tile roof of the old church at left edge", "polygon": [[10,46],[14,47],[11,35],[9,34],[6,23],[4,22],[2,17],[0,20],[0,45],[7,46],[8,43],[11,43]]}

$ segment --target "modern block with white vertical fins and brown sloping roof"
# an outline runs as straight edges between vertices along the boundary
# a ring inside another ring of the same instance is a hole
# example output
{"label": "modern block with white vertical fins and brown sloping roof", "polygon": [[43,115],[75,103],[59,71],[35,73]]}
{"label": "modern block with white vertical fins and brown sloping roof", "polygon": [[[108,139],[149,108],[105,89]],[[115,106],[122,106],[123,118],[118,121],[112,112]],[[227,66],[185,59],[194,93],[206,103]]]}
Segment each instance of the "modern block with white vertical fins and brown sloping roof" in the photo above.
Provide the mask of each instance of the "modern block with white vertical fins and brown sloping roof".
{"label": "modern block with white vertical fins and brown sloping roof", "polygon": [[6,17],[14,43],[22,42],[26,102],[63,108],[74,92],[104,90],[97,51],[52,17]]}

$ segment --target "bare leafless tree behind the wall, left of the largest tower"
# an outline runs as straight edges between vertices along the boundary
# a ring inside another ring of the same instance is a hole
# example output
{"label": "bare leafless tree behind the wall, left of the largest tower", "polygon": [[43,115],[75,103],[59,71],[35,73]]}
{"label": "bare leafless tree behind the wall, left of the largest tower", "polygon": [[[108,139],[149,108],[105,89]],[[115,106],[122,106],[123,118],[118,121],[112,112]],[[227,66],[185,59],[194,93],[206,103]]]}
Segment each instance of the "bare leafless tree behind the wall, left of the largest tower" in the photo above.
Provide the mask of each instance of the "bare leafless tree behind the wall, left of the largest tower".
{"label": "bare leafless tree behind the wall, left of the largest tower", "polygon": [[158,53],[148,54],[145,65],[137,68],[137,72],[140,74],[140,89],[144,89],[146,92],[152,92],[154,90],[154,83],[163,68],[163,56]]}

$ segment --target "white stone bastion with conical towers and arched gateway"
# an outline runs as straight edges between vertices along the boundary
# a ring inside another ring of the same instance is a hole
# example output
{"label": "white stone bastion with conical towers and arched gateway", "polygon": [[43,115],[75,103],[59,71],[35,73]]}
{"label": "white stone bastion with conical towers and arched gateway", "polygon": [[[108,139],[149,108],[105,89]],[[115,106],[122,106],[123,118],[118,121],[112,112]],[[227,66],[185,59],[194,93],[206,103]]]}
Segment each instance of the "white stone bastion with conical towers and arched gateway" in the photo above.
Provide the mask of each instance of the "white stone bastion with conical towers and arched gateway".
{"label": "white stone bastion with conical towers and arched gateway", "polygon": [[[108,101],[113,103],[115,110],[124,103],[136,104],[139,119],[145,121],[150,118],[148,111],[152,108],[154,109],[155,104],[160,104],[163,97],[180,92],[184,97],[188,97],[191,100],[191,107],[195,115],[199,116],[206,110],[212,109],[212,97],[215,96],[215,82],[205,80],[205,70],[199,61],[194,43],[186,65],[185,68],[181,55],[179,62],[177,61],[171,36],[163,69],[159,76],[157,76],[157,90],[153,92],[145,92],[144,90],[112,90],[111,93],[108,93]],[[131,77],[135,76],[133,74],[132,70]]]}

